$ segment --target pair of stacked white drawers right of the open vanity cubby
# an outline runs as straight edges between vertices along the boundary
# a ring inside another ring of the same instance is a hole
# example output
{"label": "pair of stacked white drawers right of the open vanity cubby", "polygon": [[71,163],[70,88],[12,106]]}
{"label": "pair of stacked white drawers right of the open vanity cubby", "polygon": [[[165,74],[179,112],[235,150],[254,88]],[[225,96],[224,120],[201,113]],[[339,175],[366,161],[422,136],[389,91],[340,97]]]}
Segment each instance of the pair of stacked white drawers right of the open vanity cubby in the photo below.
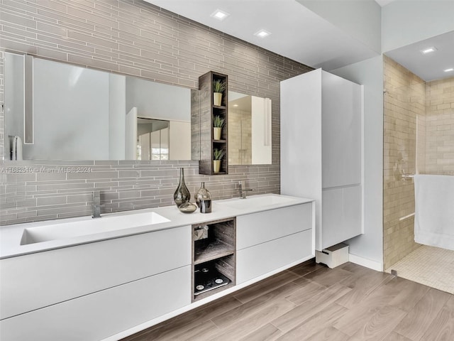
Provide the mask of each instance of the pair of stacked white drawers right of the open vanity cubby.
{"label": "pair of stacked white drawers right of the open vanity cubby", "polygon": [[236,217],[236,282],[314,257],[313,202]]}

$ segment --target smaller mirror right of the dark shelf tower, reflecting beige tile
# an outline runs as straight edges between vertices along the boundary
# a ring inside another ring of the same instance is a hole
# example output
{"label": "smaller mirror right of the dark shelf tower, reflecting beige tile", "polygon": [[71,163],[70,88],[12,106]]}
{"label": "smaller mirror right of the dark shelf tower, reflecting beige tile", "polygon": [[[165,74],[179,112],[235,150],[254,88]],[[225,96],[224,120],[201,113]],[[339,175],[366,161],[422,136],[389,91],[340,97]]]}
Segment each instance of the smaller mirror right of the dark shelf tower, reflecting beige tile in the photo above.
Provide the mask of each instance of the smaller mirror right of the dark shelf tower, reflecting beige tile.
{"label": "smaller mirror right of the dark shelf tower, reflecting beige tile", "polygon": [[271,164],[271,140],[271,99],[229,91],[229,165]]}

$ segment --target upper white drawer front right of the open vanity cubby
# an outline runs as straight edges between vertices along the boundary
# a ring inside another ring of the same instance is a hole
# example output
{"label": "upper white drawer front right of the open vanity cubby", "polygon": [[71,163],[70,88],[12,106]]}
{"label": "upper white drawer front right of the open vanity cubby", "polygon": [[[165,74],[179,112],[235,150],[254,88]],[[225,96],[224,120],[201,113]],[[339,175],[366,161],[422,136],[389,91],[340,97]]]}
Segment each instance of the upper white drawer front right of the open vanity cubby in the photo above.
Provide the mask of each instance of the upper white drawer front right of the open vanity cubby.
{"label": "upper white drawer front right of the open vanity cubby", "polygon": [[309,202],[236,217],[236,249],[311,229],[312,205]]}

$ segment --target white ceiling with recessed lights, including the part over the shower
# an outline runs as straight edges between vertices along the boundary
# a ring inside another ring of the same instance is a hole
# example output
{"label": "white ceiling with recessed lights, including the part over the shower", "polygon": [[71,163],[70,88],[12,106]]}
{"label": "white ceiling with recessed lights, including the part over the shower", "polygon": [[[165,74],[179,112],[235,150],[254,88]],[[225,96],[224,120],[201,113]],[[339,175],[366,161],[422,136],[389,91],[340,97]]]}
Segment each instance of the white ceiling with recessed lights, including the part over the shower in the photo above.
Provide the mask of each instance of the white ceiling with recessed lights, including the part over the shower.
{"label": "white ceiling with recessed lights, including the part over the shower", "polygon": [[[329,71],[379,55],[296,0],[145,1],[314,68]],[[375,1],[387,6],[394,0]],[[230,15],[219,21],[211,17],[216,9]],[[260,29],[272,34],[254,36]],[[454,67],[453,41],[454,32],[446,33],[385,54],[423,80],[453,77],[454,72],[443,72]],[[433,45],[438,48],[436,53],[429,56],[419,52]]]}

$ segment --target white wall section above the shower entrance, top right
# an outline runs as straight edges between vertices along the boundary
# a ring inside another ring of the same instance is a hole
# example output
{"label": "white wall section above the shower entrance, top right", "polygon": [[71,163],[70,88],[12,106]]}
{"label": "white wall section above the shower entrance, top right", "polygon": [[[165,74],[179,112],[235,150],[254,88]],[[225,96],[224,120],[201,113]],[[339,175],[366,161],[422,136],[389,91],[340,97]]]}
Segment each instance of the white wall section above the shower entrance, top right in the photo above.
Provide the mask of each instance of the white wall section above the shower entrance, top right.
{"label": "white wall section above the shower entrance, top right", "polygon": [[382,52],[454,31],[454,1],[393,1],[382,7]]}

